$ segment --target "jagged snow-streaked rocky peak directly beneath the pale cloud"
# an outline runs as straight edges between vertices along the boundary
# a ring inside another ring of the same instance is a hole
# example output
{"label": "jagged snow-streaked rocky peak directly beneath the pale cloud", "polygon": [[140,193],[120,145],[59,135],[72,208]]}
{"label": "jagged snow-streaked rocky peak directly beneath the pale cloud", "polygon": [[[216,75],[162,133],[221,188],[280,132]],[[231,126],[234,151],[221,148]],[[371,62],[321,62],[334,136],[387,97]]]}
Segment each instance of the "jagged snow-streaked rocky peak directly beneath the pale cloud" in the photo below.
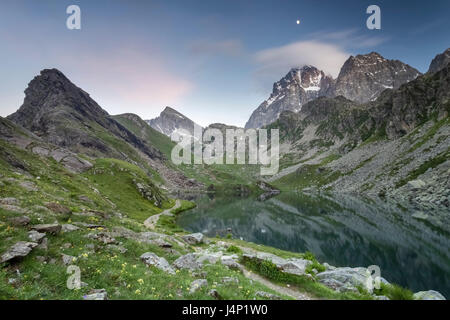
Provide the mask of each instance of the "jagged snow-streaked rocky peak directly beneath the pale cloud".
{"label": "jagged snow-streaked rocky peak directly beneath the pale cloud", "polygon": [[302,105],[325,95],[333,85],[330,76],[313,66],[291,69],[273,85],[272,94],[251,115],[245,128],[272,123],[283,111],[298,112]]}

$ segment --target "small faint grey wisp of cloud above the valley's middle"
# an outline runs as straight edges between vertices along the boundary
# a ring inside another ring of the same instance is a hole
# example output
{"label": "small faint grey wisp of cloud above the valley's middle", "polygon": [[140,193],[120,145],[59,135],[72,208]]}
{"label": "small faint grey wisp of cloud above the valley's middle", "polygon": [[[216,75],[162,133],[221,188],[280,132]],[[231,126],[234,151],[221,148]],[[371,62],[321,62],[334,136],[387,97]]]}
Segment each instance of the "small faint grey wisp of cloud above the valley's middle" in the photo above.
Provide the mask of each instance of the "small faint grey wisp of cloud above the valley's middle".
{"label": "small faint grey wisp of cloud above the valley's middle", "polygon": [[242,42],[237,39],[222,41],[197,41],[191,48],[193,54],[239,56],[244,53]]}

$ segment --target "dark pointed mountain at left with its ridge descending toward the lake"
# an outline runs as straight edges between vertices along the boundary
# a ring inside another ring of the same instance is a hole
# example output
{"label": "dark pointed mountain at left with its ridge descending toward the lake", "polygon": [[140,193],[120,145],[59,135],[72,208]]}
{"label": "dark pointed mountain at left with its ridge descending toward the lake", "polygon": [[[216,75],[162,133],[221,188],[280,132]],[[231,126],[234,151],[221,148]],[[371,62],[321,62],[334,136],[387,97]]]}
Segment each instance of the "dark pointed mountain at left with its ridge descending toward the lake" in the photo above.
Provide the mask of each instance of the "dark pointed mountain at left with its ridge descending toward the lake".
{"label": "dark pointed mountain at left with its ridge descending toward the lake", "polygon": [[23,105],[7,118],[61,149],[125,160],[150,176],[157,172],[169,188],[195,184],[168,164],[169,138],[137,115],[110,116],[57,69],[41,71],[25,90]]}

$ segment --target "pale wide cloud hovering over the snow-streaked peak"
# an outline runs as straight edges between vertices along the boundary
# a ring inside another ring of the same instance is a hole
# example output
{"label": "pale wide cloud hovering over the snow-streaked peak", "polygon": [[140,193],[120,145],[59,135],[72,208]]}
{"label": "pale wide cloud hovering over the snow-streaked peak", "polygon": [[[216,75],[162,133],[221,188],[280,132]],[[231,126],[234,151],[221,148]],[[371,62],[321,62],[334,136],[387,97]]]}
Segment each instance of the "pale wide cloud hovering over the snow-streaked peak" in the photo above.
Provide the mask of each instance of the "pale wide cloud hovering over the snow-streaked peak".
{"label": "pale wide cloud hovering over the snow-streaked peak", "polygon": [[259,75],[287,73],[293,67],[313,65],[336,77],[349,56],[349,53],[337,45],[320,41],[298,41],[259,51],[254,58],[259,65]]}

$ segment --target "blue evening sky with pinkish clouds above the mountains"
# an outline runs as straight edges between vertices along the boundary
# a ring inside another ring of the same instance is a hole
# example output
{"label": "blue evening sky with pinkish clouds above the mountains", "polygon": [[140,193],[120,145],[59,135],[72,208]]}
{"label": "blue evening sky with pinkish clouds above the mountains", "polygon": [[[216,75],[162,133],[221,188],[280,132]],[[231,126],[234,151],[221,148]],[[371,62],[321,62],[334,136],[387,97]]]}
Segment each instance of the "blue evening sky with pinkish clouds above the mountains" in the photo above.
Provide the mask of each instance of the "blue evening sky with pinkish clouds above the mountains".
{"label": "blue evening sky with pinkish clouds above the mountains", "polygon": [[[74,4],[81,30],[66,27]],[[372,4],[381,30],[366,27]],[[336,77],[376,51],[426,72],[450,47],[449,15],[447,0],[2,0],[0,116],[57,68],[110,114],[171,106],[202,126],[244,126],[292,67]]]}

